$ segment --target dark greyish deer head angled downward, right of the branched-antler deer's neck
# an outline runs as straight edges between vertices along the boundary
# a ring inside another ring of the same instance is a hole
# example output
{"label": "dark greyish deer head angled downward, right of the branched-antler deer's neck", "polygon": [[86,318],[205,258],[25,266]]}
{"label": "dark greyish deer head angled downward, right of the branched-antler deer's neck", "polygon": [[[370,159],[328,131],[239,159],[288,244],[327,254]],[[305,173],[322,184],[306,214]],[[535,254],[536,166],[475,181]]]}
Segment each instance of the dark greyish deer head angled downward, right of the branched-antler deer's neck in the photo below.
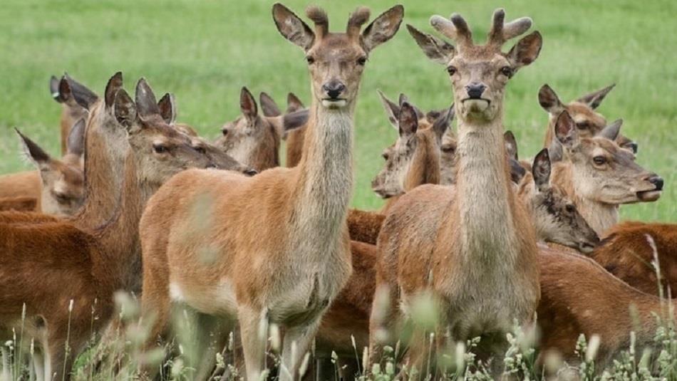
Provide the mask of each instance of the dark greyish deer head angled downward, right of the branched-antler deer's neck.
{"label": "dark greyish deer head angled downward, right of the branched-antler deer's neck", "polygon": [[550,159],[541,150],[520,181],[518,195],[532,212],[539,239],[590,253],[599,237],[562,189],[550,184]]}

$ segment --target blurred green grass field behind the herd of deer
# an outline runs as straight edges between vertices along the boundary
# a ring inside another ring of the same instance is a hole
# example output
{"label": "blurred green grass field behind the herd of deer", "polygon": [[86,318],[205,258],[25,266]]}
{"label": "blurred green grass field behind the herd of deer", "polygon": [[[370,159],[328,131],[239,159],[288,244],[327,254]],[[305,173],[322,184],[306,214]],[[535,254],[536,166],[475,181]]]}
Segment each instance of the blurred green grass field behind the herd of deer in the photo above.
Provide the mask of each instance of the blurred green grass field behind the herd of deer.
{"label": "blurred green grass field behind the herd of deer", "polygon": [[[677,14],[674,1],[448,1],[403,0],[405,22],[432,31],[432,14],[463,14],[485,35],[492,10],[509,19],[531,16],[544,36],[539,59],[507,88],[505,126],[520,152],[532,156],[542,142],[547,115],[537,91],[549,83],[564,100],[609,83],[616,89],[600,107],[639,142],[638,162],[666,180],[663,197],[622,208],[624,219],[677,221]],[[363,1],[374,14],[395,0]],[[302,14],[306,1],[285,4]],[[319,1],[334,30],[343,29],[358,1]],[[279,102],[288,91],[309,98],[304,55],[282,38],[270,14],[272,1],[38,1],[6,0],[0,13],[0,173],[28,168],[19,157],[19,127],[49,152],[58,152],[59,107],[48,95],[49,75],[68,71],[98,93],[115,71],[127,88],[145,76],[156,93],[173,92],[179,119],[215,137],[239,113],[239,88],[267,91]],[[509,48],[506,47],[506,48]],[[396,138],[376,89],[403,92],[421,108],[442,108],[452,93],[441,66],[428,61],[404,28],[371,54],[356,112],[356,187],[353,204],[372,209],[381,201],[371,178],[381,150]]]}

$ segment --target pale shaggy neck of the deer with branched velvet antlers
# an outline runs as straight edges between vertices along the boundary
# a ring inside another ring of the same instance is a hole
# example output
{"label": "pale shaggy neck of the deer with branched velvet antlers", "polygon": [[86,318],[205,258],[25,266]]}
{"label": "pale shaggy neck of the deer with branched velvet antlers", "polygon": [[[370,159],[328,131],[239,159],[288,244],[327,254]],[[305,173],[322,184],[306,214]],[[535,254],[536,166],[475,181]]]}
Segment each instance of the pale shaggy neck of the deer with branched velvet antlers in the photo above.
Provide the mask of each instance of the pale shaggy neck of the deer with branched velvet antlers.
{"label": "pale shaggy neck of the deer with branched velvet antlers", "polygon": [[[470,263],[516,256],[515,194],[510,186],[500,118],[477,123],[459,119],[455,212],[460,251]],[[528,222],[528,221],[527,221]],[[501,255],[497,255],[497,254]]]}

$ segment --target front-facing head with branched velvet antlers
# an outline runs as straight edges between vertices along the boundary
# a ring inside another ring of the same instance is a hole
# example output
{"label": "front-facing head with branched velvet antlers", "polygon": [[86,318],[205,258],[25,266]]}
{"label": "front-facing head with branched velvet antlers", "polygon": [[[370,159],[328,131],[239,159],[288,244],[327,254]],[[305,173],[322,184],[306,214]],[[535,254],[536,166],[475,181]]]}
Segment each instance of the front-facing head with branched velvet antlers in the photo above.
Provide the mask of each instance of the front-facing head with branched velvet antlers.
{"label": "front-facing head with branched velvet antlers", "polygon": [[505,85],[523,66],[529,65],[541,50],[542,38],[538,31],[530,33],[502,53],[503,44],[520,36],[531,27],[527,17],[504,23],[505,12],[494,12],[487,43],[472,42],[472,32],[465,19],[452,14],[430,18],[430,24],[444,36],[453,39],[456,46],[418,31],[408,25],[409,33],[428,58],[446,66],[454,88],[454,102],[459,118],[470,122],[490,122],[500,118]]}

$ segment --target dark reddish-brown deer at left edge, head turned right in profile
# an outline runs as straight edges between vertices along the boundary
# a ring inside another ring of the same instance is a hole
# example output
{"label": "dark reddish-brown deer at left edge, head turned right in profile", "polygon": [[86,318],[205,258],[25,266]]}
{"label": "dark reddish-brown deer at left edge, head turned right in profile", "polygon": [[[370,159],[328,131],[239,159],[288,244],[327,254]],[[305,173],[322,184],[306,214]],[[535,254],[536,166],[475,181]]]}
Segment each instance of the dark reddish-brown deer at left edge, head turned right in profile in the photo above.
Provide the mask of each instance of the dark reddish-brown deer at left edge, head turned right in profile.
{"label": "dark reddish-brown deer at left edge, head turned right in profile", "polygon": [[[213,166],[185,135],[162,121],[144,80],[137,86],[136,103],[125,90],[114,99],[115,118],[125,126],[118,128],[128,134],[130,154],[113,218],[95,229],[70,221],[0,224],[0,326],[8,338],[21,327],[35,338],[48,380],[53,372],[68,376],[91,329],[98,330],[110,318],[113,292],[132,287],[130,267],[138,263],[138,221],[145,201],[177,172]],[[94,320],[92,308],[98,316]]]}

